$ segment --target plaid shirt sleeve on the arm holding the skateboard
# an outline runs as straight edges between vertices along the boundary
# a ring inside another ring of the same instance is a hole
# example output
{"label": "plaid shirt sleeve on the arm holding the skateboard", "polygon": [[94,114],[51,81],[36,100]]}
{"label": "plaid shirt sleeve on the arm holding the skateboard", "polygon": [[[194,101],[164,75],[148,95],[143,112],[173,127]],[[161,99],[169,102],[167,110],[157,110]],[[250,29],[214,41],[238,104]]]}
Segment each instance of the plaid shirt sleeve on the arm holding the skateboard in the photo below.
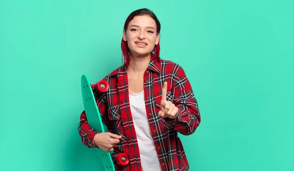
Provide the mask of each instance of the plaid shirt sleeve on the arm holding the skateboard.
{"label": "plaid shirt sleeve on the arm holding the skateboard", "polygon": [[[99,108],[100,116],[102,119],[102,123],[106,125],[106,114],[107,114],[107,107],[106,103],[103,100],[102,96],[95,97],[96,103]],[[94,144],[94,136],[99,132],[95,131],[88,123],[87,116],[85,110],[80,114],[80,122],[78,124],[78,132],[81,137],[82,143],[87,146],[88,148],[98,148]]]}

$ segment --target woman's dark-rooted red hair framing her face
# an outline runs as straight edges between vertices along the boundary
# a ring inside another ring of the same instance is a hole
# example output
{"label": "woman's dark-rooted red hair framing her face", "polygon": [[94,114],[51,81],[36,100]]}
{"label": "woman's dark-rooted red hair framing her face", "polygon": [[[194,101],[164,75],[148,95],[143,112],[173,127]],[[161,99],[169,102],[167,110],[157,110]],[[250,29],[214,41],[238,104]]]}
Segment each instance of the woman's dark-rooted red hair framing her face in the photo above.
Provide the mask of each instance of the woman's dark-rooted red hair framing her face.
{"label": "woman's dark-rooted red hair framing her face", "polygon": [[[146,8],[143,8],[143,9],[138,9],[136,11],[133,11],[126,19],[125,23],[124,23],[124,26],[123,26],[123,29],[126,31],[127,30],[127,26],[128,26],[128,23],[133,20],[134,17],[136,16],[143,16],[143,15],[147,15],[149,17],[151,17],[155,23],[156,23],[156,26],[157,26],[157,33],[160,32],[160,22],[158,21],[157,17],[155,16],[155,14],[146,9]],[[127,42],[124,42],[123,39],[122,39],[122,43],[121,43],[121,46],[122,46],[122,62],[124,62],[126,65],[128,65],[130,63],[130,57],[129,57],[129,48],[127,46]],[[151,59],[155,59],[155,60],[159,60],[160,57],[159,57],[159,51],[160,51],[160,45],[159,45],[159,41],[158,41],[158,44],[155,45],[155,49],[151,52]]]}

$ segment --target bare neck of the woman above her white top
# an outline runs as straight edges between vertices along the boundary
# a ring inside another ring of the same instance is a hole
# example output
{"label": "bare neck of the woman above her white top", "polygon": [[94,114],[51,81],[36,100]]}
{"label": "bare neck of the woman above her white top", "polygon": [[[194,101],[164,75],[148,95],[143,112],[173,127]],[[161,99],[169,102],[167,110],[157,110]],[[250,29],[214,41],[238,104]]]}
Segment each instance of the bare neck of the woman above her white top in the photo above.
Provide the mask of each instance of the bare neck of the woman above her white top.
{"label": "bare neck of the woman above her white top", "polygon": [[129,72],[145,72],[150,63],[150,58],[150,55],[146,57],[134,57],[130,55],[130,63],[127,70]]}

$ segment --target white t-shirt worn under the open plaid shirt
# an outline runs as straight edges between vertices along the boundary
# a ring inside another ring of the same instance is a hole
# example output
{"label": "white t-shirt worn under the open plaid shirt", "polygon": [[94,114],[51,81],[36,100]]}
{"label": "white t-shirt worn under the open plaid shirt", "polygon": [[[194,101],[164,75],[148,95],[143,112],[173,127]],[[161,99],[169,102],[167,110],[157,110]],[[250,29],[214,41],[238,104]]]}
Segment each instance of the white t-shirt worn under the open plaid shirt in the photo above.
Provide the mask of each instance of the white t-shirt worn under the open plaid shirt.
{"label": "white t-shirt worn under the open plaid shirt", "polygon": [[158,155],[148,123],[144,90],[140,93],[129,91],[129,102],[137,134],[143,171],[161,171]]}

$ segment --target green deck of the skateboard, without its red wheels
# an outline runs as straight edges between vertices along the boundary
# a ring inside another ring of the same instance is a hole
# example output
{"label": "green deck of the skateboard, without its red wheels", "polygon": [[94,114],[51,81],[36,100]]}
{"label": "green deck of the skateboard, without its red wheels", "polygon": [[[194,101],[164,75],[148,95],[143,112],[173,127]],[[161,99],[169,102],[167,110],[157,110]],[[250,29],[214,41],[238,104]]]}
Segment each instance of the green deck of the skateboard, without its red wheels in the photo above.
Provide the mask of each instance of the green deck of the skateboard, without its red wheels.
{"label": "green deck of the skateboard, without its red wheels", "polygon": [[[97,132],[107,132],[107,130],[104,129],[104,124],[102,123],[102,119],[95,101],[92,86],[86,75],[82,75],[81,88],[84,109],[86,112],[89,125]],[[105,171],[115,171],[114,164],[110,156],[110,152],[101,149],[97,150]]]}

